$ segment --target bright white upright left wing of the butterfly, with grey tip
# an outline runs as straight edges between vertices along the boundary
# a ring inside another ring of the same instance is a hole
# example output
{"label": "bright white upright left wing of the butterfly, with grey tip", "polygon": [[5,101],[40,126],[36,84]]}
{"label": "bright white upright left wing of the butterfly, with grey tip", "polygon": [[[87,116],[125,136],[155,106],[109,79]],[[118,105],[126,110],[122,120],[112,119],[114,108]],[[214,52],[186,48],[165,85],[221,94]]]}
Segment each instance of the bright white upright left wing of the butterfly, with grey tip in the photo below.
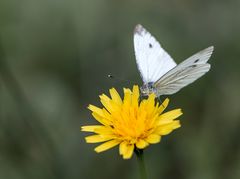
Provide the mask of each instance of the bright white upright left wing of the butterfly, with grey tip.
{"label": "bright white upright left wing of the butterfly, with grey tip", "polygon": [[134,30],[134,50],[144,84],[156,82],[176,66],[170,55],[141,25],[137,25]]}

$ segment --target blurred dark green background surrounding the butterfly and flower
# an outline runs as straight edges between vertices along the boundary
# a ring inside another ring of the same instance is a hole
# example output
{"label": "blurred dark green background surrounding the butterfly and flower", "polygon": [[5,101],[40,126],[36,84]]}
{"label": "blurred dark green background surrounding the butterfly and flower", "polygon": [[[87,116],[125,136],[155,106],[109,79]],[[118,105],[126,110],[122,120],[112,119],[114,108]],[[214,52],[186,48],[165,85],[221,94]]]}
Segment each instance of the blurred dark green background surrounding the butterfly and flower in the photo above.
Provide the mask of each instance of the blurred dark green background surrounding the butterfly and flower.
{"label": "blurred dark green background surrounding the butterfly and flower", "polygon": [[142,84],[138,23],[177,63],[215,46],[210,72],[170,97],[182,127],[146,149],[149,178],[240,178],[239,0],[1,0],[1,179],[139,177],[135,157],[96,154],[79,131],[99,94]]}

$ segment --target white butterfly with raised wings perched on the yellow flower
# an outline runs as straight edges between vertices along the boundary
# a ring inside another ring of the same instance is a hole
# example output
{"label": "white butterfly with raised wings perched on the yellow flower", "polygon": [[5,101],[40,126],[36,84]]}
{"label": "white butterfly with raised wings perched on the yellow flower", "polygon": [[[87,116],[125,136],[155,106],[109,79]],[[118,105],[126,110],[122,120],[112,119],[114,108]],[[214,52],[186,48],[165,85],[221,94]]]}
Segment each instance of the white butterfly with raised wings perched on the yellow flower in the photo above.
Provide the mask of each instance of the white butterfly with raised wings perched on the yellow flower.
{"label": "white butterfly with raised wings perched on the yellow flower", "polygon": [[158,41],[141,25],[137,25],[134,30],[134,50],[143,80],[142,95],[155,93],[160,96],[174,94],[208,72],[210,64],[207,61],[213,46],[177,65]]}

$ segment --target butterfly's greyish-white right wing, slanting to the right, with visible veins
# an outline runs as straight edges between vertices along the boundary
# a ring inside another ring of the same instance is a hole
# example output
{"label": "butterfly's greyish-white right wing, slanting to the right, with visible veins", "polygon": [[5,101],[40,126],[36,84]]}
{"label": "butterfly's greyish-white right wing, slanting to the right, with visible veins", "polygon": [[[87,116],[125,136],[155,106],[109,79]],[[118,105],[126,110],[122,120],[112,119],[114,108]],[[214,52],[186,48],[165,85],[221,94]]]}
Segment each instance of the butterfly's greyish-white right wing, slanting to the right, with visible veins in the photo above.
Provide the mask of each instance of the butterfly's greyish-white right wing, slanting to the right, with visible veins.
{"label": "butterfly's greyish-white right wing, slanting to the right, with visible veins", "polygon": [[154,84],[157,96],[174,94],[207,73],[213,49],[211,46],[196,53],[163,75]]}

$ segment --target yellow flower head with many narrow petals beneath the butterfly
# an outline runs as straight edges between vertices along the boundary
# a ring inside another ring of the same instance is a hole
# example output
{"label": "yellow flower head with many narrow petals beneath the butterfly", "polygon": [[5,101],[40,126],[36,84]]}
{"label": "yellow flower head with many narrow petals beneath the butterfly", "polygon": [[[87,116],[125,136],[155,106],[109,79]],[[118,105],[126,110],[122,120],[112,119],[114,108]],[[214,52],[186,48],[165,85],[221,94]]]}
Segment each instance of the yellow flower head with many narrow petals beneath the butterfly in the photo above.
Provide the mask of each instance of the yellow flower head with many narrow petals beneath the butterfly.
{"label": "yellow flower head with many narrow petals beneath the butterfly", "polygon": [[139,102],[138,86],[134,86],[132,91],[124,88],[123,100],[114,88],[109,91],[111,98],[100,95],[103,108],[88,107],[101,125],[82,126],[81,129],[95,133],[85,138],[87,143],[104,142],[95,148],[96,152],[119,145],[120,155],[129,159],[135,147],[144,149],[149,144],[158,143],[161,136],[180,127],[179,120],[174,119],[182,115],[181,109],[163,113],[169,99],[160,105],[155,102],[156,96],[151,94]]}

